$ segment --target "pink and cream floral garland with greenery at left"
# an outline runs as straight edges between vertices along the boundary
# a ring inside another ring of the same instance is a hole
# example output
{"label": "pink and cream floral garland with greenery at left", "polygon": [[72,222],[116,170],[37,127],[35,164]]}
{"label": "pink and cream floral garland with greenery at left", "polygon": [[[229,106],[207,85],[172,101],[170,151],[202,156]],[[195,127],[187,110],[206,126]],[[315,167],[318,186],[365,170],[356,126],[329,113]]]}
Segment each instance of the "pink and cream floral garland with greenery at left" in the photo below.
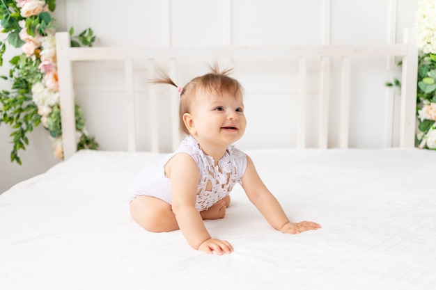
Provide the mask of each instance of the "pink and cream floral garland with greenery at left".
{"label": "pink and cream floral garland with greenery at left", "polygon": [[[56,67],[55,25],[49,12],[53,12],[56,0],[0,0],[0,25],[6,40],[0,41],[0,65],[6,43],[21,47],[22,54],[10,59],[9,76],[3,79],[13,82],[11,90],[0,92],[0,124],[8,124],[13,132],[13,150],[10,161],[21,164],[18,150],[29,145],[26,134],[42,124],[52,140],[54,156],[63,158],[61,109],[59,106],[59,82]],[[95,41],[91,29],[72,36],[73,47],[89,46]],[[98,143],[88,136],[83,111],[75,105],[77,150],[98,149]]]}

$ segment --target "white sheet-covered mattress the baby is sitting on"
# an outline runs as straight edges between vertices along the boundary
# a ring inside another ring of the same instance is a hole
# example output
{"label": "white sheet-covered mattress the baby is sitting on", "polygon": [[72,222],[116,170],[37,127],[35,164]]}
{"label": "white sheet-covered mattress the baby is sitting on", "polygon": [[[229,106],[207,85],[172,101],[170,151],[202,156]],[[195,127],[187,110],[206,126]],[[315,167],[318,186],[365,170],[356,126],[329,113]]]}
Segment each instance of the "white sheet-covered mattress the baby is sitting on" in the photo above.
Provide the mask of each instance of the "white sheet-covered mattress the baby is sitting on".
{"label": "white sheet-covered mattress the baby is sitting on", "polygon": [[205,221],[231,255],[151,233],[127,188],[157,154],[81,151],[0,195],[0,289],[436,289],[436,152],[248,152],[294,220],[282,234],[240,186]]}

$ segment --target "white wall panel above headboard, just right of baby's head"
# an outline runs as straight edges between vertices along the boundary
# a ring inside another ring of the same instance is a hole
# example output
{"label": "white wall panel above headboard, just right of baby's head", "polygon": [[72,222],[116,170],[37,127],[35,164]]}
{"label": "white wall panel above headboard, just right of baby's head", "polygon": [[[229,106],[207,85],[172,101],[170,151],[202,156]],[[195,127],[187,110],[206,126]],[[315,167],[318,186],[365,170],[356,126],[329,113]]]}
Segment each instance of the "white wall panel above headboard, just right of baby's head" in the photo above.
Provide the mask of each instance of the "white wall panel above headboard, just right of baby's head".
{"label": "white wall panel above headboard, just right of baby's head", "polygon": [[319,44],[322,0],[233,0],[234,45]]}

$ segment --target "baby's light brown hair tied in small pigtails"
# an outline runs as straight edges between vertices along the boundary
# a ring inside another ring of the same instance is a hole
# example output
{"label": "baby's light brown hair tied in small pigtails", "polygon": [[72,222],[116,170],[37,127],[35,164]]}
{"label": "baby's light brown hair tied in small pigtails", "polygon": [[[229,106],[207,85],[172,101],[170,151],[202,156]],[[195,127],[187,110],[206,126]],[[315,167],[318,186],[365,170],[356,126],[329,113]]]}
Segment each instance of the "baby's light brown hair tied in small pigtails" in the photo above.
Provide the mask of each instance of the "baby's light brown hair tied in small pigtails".
{"label": "baby's light brown hair tied in small pigtails", "polygon": [[189,134],[189,131],[185,127],[185,122],[183,122],[183,115],[185,115],[185,113],[190,113],[191,104],[199,90],[215,92],[218,95],[226,93],[235,97],[242,97],[242,86],[239,81],[228,76],[228,74],[233,71],[232,68],[227,68],[226,70],[221,71],[216,62],[214,62],[213,65],[209,65],[209,68],[210,72],[208,74],[196,76],[184,87],[179,87],[162,69],[162,67],[157,67],[157,77],[150,80],[150,83],[165,83],[178,88],[178,91],[180,92],[179,126],[180,130],[185,134]]}

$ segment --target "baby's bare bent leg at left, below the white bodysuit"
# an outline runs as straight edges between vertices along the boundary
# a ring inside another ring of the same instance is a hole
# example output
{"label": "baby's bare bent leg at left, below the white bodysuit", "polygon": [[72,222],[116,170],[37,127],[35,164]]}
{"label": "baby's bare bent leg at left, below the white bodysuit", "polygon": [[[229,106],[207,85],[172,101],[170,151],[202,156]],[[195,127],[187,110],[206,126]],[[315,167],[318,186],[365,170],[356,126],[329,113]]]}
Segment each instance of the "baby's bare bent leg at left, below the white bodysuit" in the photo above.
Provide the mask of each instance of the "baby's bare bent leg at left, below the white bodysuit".
{"label": "baby's bare bent leg at left, below the white bodysuit", "polygon": [[151,196],[139,196],[130,202],[132,218],[150,232],[179,229],[171,205]]}

